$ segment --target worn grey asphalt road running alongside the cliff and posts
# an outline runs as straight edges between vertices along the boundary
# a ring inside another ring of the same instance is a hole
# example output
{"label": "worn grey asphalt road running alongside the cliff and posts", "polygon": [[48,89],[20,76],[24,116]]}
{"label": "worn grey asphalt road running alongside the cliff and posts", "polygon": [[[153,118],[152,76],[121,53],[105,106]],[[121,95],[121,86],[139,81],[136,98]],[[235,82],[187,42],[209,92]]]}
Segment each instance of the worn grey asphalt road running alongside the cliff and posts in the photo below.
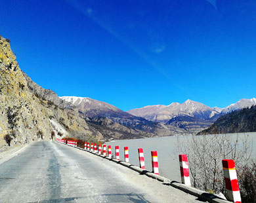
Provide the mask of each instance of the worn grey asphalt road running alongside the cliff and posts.
{"label": "worn grey asphalt road running alongside the cliff and posts", "polygon": [[0,202],[200,202],[102,157],[51,141],[0,165]]}

